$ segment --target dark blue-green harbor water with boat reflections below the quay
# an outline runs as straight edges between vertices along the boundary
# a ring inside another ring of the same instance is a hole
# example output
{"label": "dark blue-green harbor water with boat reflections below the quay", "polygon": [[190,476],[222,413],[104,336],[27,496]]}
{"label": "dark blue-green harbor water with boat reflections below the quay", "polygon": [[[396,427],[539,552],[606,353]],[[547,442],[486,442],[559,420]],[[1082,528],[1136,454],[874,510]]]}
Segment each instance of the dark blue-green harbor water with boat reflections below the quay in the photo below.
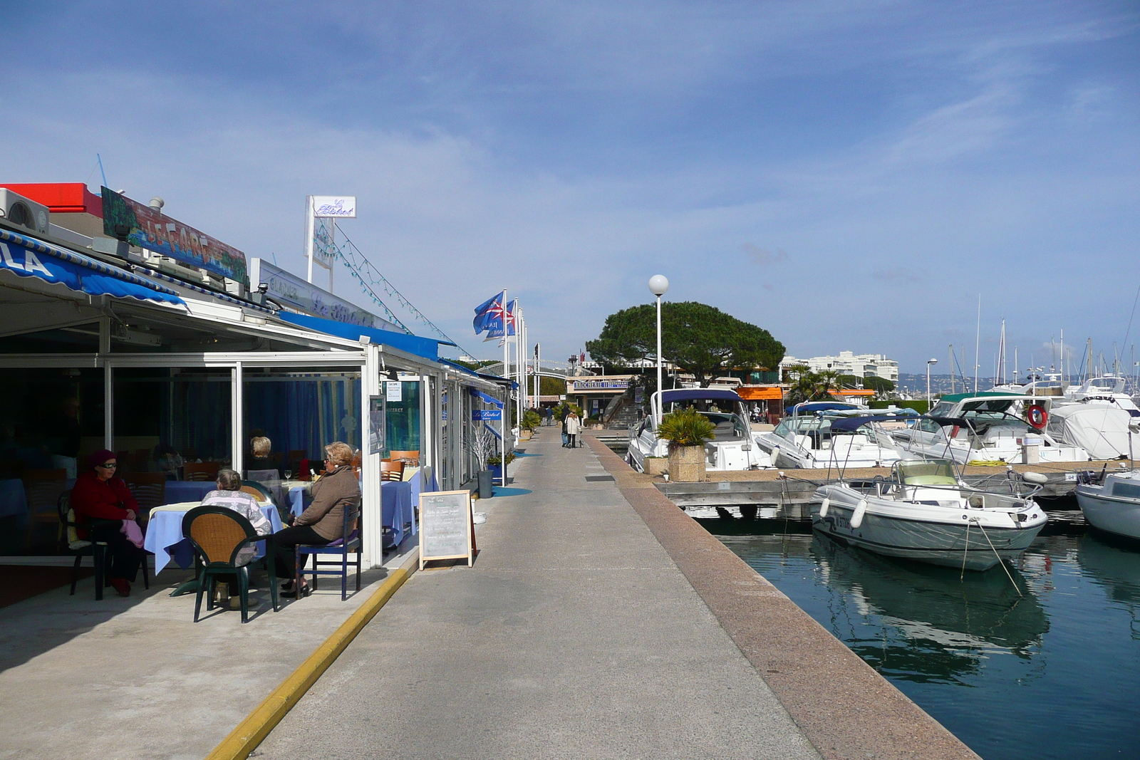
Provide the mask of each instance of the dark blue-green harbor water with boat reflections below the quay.
{"label": "dark blue-green harbor water with boat reflections below the quay", "polygon": [[699,520],[986,760],[1140,759],[1140,548],[1050,517],[1021,595],[1000,567],[959,580],[803,521]]}

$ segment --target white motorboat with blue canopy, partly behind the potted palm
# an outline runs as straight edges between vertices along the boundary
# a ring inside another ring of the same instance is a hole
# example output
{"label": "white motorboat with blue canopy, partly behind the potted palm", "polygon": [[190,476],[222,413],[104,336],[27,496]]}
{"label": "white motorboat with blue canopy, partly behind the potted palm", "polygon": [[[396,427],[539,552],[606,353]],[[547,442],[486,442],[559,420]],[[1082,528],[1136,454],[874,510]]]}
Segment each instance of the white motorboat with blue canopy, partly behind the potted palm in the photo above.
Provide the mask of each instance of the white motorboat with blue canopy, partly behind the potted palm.
{"label": "white motorboat with blue canopy, partly behind the potted palm", "polygon": [[626,461],[645,471],[646,457],[669,456],[669,441],[657,436],[657,418],[663,414],[691,407],[705,415],[716,427],[712,440],[705,444],[705,466],[710,471],[759,469],[771,467],[772,458],[762,451],[752,438],[744,400],[732,390],[686,387],[659,391],[650,399],[650,414],[629,430]]}

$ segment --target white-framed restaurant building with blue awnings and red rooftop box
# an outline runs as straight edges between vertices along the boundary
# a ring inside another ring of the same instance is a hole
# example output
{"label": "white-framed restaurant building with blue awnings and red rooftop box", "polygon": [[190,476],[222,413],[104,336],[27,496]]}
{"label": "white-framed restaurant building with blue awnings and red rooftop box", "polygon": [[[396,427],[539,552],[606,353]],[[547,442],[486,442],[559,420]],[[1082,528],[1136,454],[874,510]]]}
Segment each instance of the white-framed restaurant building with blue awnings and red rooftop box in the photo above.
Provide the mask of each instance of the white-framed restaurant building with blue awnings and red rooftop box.
{"label": "white-framed restaurant building with blue awnings and red rooftop box", "polygon": [[[55,499],[103,448],[128,482],[171,453],[304,479],[344,441],[360,452],[370,564],[381,459],[415,452],[416,490],[475,479],[472,418],[510,383],[441,359],[440,341],[247,260],[161,203],[0,185],[0,554],[55,550]],[[254,436],[268,458],[252,459]]]}

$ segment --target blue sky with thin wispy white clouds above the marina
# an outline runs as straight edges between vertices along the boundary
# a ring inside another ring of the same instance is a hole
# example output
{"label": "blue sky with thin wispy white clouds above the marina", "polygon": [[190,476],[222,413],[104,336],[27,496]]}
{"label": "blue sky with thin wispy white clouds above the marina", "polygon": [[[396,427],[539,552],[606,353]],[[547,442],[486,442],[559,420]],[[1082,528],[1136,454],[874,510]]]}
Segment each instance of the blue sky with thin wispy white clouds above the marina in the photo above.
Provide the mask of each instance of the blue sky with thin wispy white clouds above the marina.
{"label": "blue sky with thin wispy white clouds above the marina", "polygon": [[502,356],[471,328],[499,289],[564,359],[652,302],[656,273],[666,300],[796,357],[904,373],[953,344],[972,374],[979,296],[983,375],[1002,318],[1023,369],[1060,330],[1074,366],[1088,338],[1127,365],[1140,342],[1134,0],[0,0],[0,17],[21,41],[0,181],[98,191],[98,154],[113,189],[298,272],[306,195],[356,195],[342,229],[478,357]]}

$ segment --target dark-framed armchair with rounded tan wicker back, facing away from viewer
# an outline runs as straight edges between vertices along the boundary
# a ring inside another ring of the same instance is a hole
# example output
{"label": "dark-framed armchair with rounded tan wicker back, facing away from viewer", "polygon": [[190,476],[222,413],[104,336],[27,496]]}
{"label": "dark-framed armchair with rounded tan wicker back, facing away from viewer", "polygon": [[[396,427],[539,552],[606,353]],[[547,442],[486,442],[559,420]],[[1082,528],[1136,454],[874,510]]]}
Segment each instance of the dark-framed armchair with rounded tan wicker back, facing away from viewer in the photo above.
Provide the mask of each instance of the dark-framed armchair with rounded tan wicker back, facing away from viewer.
{"label": "dark-framed armchair with rounded tan wicker back, facing away from viewer", "polygon": [[[266,567],[272,562],[274,537],[258,536],[253,525],[226,507],[195,507],[182,517],[182,536],[190,540],[202,570],[198,574],[198,594],[194,602],[194,622],[202,612],[202,595],[206,594],[206,610],[213,610],[213,587],[218,575],[237,575],[242,600],[242,622],[250,622],[250,566],[238,565],[237,555],[247,545],[266,541]],[[269,595],[277,612],[277,581],[269,574]]]}

